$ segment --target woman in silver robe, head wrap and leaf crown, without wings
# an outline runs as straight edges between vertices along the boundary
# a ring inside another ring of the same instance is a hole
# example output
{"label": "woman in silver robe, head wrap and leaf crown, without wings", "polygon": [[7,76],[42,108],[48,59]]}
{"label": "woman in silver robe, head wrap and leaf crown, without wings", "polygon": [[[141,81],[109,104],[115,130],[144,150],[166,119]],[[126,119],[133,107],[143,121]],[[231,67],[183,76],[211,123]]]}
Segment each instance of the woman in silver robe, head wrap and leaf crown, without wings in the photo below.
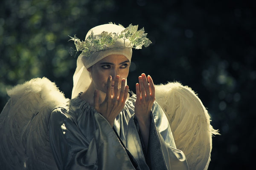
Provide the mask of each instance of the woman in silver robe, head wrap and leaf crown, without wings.
{"label": "woman in silver robe, head wrap and leaf crown, without wings", "polygon": [[72,38],[82,51],[72,99],[49,121],[58,169],[188,169],[154,101],[152,78],[138,77],[136,95],[126,85],[132,47],[147,46],[145,35],[137,26],[110,23],[91,29],[85,41]]}

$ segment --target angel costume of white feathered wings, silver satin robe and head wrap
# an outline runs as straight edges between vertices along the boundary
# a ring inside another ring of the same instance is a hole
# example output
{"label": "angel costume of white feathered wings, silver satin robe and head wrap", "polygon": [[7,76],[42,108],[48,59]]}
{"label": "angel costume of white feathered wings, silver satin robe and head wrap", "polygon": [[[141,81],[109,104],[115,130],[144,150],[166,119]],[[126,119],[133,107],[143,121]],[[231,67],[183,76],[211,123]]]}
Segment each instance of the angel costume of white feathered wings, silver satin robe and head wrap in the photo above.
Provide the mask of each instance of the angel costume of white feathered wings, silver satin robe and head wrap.
{"label": "angel costume of white feathered wings, silver satin robe and head wrap", "polygon": [[[105,49],[94,48],[89,53],[81,50],[83,42],[73,38],[82,53],[73,76],[71,100],[65,99],[47,78],[32,79],[8,91],[11,98],[0,114],[1,167],[33,170],[208,168],[212,134],[218,132],[210,125],[207,110],[190,88],[178,83],[155,86],[148,148],[143,145],[134,115],[136,95],[133,92],[129,92],[130,98],[113,127],[79,98],[91,81],[87,68],[111,54],[124,55],[131,61],[131,47],[141,48],[143,44],[131,38],[134,27],[129,27],[115,24],[94,27],[87,33],[86,40],[92,42],[106,32],[110,33],[107,36],[116,38],[114,43],[107,43]],[[129,40],[116,36],[127,31],[131,31]],[[142,33],[145,43],[144,30]]]}

